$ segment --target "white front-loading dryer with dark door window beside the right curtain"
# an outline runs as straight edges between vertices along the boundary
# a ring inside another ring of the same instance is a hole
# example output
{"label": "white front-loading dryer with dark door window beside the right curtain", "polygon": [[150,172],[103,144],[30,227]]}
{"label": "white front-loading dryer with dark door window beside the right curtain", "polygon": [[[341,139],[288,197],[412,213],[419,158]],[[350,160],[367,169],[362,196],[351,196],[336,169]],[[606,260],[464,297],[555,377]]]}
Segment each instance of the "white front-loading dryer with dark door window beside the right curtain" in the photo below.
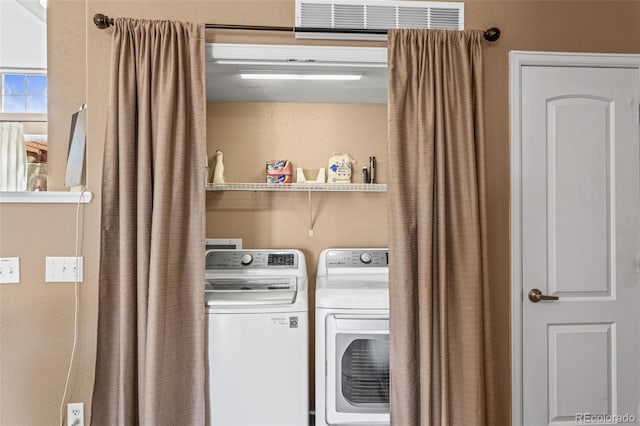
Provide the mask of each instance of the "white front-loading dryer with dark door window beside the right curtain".
{"label": "white front-loading dryer with dark door window beside the right curtain", "polygon": [[327,249],[316,280],[316,426],[389,424],[389,251]]}

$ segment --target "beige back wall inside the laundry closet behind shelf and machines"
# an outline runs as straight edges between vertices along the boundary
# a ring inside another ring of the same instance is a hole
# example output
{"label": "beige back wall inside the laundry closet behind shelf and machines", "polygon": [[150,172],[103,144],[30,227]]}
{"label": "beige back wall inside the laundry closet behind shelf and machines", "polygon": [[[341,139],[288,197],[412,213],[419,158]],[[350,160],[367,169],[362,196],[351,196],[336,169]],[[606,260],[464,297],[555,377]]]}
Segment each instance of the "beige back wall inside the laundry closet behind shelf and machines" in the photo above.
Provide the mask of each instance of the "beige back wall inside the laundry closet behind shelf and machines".
{"label": "beige back wall inside the laundry closet behind shelf and machines", "polygon": [[[227,182],[263,182],[265,162],[289,159],[292,167],[327,167],[333,152],[356,160],[352,182],[375,156],[377,180],[387,181],[387,106],[362,104],[210,103],[207,146],[224,152]],[[212,162],[213,164],[213,162]],[[294,172],[295,173],[295,172]],[[309,236],[307,193],[210,192],[207,236],[243,239],[244,247],[298,248],[309,273],[310,330],[314,328],[317,260],[328,247],[386,247],[385,193],[313,193]],[[313,334],[310,335],[313,398]]]}

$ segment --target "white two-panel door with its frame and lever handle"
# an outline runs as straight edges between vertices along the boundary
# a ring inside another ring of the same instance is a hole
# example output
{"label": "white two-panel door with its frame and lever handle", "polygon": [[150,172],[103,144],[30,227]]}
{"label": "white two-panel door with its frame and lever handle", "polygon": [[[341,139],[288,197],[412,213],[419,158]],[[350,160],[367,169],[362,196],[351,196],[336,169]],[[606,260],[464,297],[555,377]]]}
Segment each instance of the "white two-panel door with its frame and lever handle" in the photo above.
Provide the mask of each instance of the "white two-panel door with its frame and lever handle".
{"label": "white two-panel door with its frame and lever handle", "polygon": [[[640,421],[640,58],[522,55],[514,425]],[[558,299],[531,301],[534,289]]]}

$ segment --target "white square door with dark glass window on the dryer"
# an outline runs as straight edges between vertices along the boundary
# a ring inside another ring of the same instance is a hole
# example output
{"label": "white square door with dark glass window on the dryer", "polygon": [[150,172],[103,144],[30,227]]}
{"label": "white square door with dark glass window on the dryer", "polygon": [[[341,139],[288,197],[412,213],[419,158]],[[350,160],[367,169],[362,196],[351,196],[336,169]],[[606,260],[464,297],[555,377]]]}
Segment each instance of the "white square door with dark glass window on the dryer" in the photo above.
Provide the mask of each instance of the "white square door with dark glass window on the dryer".
{"label": "white square door with dark glass window on the dryer", "polygon": [[389,316],[326,319],[329,424],[389,423]]}

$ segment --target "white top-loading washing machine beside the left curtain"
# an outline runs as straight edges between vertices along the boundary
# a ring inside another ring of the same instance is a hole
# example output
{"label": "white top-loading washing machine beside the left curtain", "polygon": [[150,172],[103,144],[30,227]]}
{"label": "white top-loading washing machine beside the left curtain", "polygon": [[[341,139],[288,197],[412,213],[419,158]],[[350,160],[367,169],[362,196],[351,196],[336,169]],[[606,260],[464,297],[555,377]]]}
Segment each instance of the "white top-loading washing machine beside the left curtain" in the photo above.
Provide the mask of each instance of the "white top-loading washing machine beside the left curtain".
{"label": "white top-loading washing machine beside the left curtain", "polygon": [[308,425],[307,285],[299,250],[207,251],[209,425]]}

